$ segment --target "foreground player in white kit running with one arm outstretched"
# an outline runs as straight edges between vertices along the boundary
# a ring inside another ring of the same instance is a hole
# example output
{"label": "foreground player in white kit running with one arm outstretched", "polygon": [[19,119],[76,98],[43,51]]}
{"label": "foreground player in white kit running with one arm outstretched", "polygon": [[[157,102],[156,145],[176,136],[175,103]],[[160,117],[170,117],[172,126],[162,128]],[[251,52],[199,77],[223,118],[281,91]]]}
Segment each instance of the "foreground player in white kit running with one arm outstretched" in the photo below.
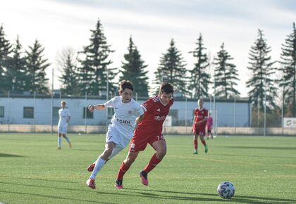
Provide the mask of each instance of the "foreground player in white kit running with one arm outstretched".
{"label": "foreground player in white kit running with one arm outstretched", "polygon": [[96,188],[94,180],[99,170],[105,163],[113,158],[116,154],[130,143],[133,131],[137,127],[137,119],[144,114],[144,110],[135,100],[132,99],[132,91],[134,87],[130,81],[123,80],[119,83],[119,95],[111,98],[104,104],[89,106],[90,112],[97,110],[105,110],[106,108],[114,109],[114,116],[106,133],[105,150],[97,161],[87,167],[92,172],[86,184],[92,189]]}

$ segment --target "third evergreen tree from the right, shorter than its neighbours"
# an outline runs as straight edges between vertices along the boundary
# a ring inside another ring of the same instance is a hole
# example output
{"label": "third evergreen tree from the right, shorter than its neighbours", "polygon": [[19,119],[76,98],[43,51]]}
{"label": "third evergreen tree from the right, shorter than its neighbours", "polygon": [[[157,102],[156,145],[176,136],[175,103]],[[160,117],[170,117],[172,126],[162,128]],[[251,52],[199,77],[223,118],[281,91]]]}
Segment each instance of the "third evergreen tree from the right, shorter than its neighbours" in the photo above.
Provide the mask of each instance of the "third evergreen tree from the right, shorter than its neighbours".
{"label": "third evergreen tree from the right, shorter than its neighbours", "polygon": [[216,97],[230,98],[240,95],[240,92],[235,89],[238,84],[238,70],[235,65],[230,63],[233,58],[224,48],[224,43],[221,45],[221,50],[218,51],[217,57],[214,58],[215,68],[215,85]]}

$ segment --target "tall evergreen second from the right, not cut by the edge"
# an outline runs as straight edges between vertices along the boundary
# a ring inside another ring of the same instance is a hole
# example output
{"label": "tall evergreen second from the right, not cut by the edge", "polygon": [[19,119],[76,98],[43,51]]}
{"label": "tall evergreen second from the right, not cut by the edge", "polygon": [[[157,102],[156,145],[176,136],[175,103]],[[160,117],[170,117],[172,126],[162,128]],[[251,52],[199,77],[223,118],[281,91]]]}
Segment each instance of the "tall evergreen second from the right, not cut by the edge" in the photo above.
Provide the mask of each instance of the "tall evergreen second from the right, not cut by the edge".
{"label": "tall evergreen second from the right, not cut by the edge", "polygon": [[251,46],[249,52],[249,70],[252,71],[252,77],[247,81],[247,87],[251,90],[248,92],[250,100],[253,105],[257,107],[258,103],[260,110],[264,110],[264,98],[266,94],[266,108],[276,108],[275,98],[276,88],[274,87],[275,79],[272,75],[275,73],[271,61],[271,47],[267,45],[266,40],[263,38],[264,34],[261,30],[258,31],[258,39]]}

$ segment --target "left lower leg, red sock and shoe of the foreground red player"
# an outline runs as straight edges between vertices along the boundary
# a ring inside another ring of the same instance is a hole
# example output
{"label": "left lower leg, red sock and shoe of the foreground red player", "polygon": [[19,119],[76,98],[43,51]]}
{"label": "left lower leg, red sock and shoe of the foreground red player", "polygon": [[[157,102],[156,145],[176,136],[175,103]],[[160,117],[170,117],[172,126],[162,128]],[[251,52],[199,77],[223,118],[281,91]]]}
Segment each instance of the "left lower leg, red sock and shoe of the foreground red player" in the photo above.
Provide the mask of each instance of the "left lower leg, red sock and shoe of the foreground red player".
{"label": "left lower leg, red sock and shoe of the foreground red player", "polygon": [[115,186],[117,189],[123,189],[123,176],[124,176],[125,172],[127,172],[130,169],[130,166],[135,161],[138,154],[139,154],[139,151],[137,151],[137,152],[129,151],[127,157],[121,163],[121,167],[119,168],[118,174],[116,177]]}

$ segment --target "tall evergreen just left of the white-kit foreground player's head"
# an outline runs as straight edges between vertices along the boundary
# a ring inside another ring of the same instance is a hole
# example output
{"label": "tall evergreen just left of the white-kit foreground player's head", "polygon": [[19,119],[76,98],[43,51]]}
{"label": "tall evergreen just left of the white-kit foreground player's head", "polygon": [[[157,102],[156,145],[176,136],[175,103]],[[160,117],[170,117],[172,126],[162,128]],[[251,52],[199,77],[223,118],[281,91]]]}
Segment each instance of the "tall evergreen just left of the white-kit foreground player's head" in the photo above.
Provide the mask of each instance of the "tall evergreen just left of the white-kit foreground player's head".
{"label": "tall evergreen just left of the white-kit foreground player's head", "polygon": [[111,79],[115,77],[114,68],[108,68],[112,61],[108,59],[109,53],[113,50],[107,44],[103,27],[100,20],[97,20],[95,30],[90,37],[90,44],[83,47],[83,60],[79,60],[79,86],[80,94],[98,95],[100,91],[106,91],[107,77],[109,82],[109,94],[114,93],[115,87],[111,84]]}

